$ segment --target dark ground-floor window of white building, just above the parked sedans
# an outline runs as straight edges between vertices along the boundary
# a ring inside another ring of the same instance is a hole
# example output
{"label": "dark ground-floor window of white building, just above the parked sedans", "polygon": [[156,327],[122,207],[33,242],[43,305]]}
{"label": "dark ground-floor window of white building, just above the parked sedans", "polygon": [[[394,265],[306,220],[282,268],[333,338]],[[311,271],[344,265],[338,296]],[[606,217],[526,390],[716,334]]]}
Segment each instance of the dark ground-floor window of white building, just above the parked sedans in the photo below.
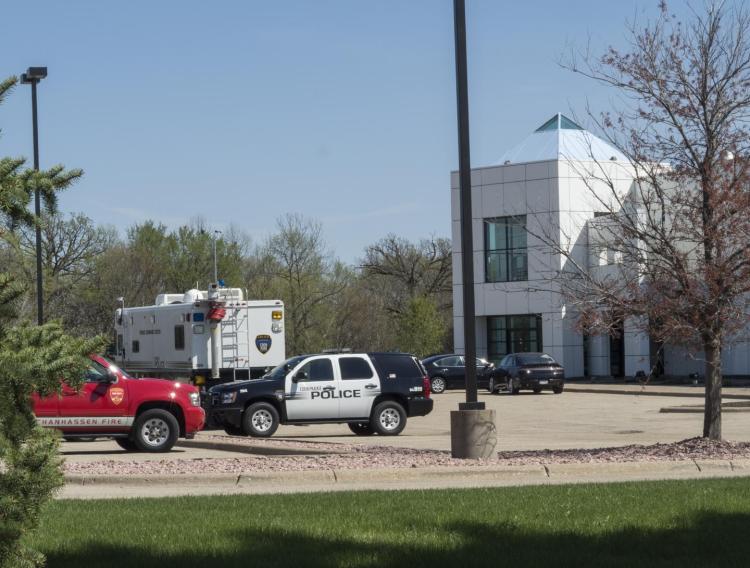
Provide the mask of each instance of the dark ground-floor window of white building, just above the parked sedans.
{"label": "dark ground-floor window of white building, just above the parked sedans", "polygon": [[536,352],[542,345],[542,316],[492,316],[487,318],[487,358],[499,364],[508,353]]}

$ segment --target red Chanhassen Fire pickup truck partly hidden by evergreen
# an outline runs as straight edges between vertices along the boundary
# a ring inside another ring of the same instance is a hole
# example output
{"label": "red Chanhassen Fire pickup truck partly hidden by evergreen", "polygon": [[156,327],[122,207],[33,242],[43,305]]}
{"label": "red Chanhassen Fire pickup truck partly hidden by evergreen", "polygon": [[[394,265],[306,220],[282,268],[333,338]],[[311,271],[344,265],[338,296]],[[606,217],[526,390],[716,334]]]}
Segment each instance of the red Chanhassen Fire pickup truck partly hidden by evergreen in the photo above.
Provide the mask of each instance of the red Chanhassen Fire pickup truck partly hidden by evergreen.
{"label": "red Chanhassen Fire pickup truck partly hidden by evergreen", "polygon": [[59,395],[34,395],[39,424],[61,430],[65,438],[114,438],[125,450],[167,452],[206,420],[192,385],[136,379],[98,355],[91,356],[84,379],[80,390],[63,384]]}

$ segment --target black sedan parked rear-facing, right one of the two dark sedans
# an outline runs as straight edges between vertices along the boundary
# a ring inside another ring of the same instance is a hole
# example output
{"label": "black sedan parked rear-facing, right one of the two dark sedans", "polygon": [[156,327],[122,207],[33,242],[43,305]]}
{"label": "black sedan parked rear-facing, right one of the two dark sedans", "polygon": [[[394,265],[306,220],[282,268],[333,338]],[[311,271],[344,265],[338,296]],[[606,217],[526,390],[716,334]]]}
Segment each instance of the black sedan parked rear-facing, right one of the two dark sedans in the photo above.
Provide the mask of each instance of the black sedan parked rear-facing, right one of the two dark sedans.
{"label": "black sedan parked rear-facing, right one of the two dark sedans", "polygon": [[535,393],[551,389],[560,394],[564,386],[562,365],[546,353],[512,353],[490,374],[487,390],[493,394],[501,389],[518,394],[521,389]]}

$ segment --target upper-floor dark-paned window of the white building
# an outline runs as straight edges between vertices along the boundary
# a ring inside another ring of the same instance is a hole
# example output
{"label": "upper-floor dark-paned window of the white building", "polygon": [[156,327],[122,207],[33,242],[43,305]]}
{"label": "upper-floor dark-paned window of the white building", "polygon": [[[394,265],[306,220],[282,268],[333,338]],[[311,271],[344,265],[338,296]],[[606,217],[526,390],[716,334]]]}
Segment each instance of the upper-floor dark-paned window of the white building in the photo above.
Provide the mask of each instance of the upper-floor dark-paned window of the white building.
{"label": "upper-floor dark-paned window of the white building", "polygon": [[526,215],[485,219],[484,251],[486,282],[528,280]]}

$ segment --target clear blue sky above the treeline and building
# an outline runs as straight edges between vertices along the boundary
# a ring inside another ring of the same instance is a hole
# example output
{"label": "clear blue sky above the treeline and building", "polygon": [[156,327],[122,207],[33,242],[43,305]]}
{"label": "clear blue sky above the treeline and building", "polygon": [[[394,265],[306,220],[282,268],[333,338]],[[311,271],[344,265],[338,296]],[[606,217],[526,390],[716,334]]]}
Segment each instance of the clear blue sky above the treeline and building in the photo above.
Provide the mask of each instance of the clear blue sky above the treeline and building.
{"label": "clear blue sky above the treeline and building", "polygon": [[[656,4],[467,0],[472,165],[557,111],[609,107],[614,93],[557,61],[622,46]],[[42,167],[86,171],[64,211],[121,230],[202,216],[255,242],[301,213],[349,262],[390,232],[450,236],[450,0],[27,0],[3,14],[0,75],[49,68]],[[30,123],[20,87],[0,107],[0,155],[30,156]]]}

